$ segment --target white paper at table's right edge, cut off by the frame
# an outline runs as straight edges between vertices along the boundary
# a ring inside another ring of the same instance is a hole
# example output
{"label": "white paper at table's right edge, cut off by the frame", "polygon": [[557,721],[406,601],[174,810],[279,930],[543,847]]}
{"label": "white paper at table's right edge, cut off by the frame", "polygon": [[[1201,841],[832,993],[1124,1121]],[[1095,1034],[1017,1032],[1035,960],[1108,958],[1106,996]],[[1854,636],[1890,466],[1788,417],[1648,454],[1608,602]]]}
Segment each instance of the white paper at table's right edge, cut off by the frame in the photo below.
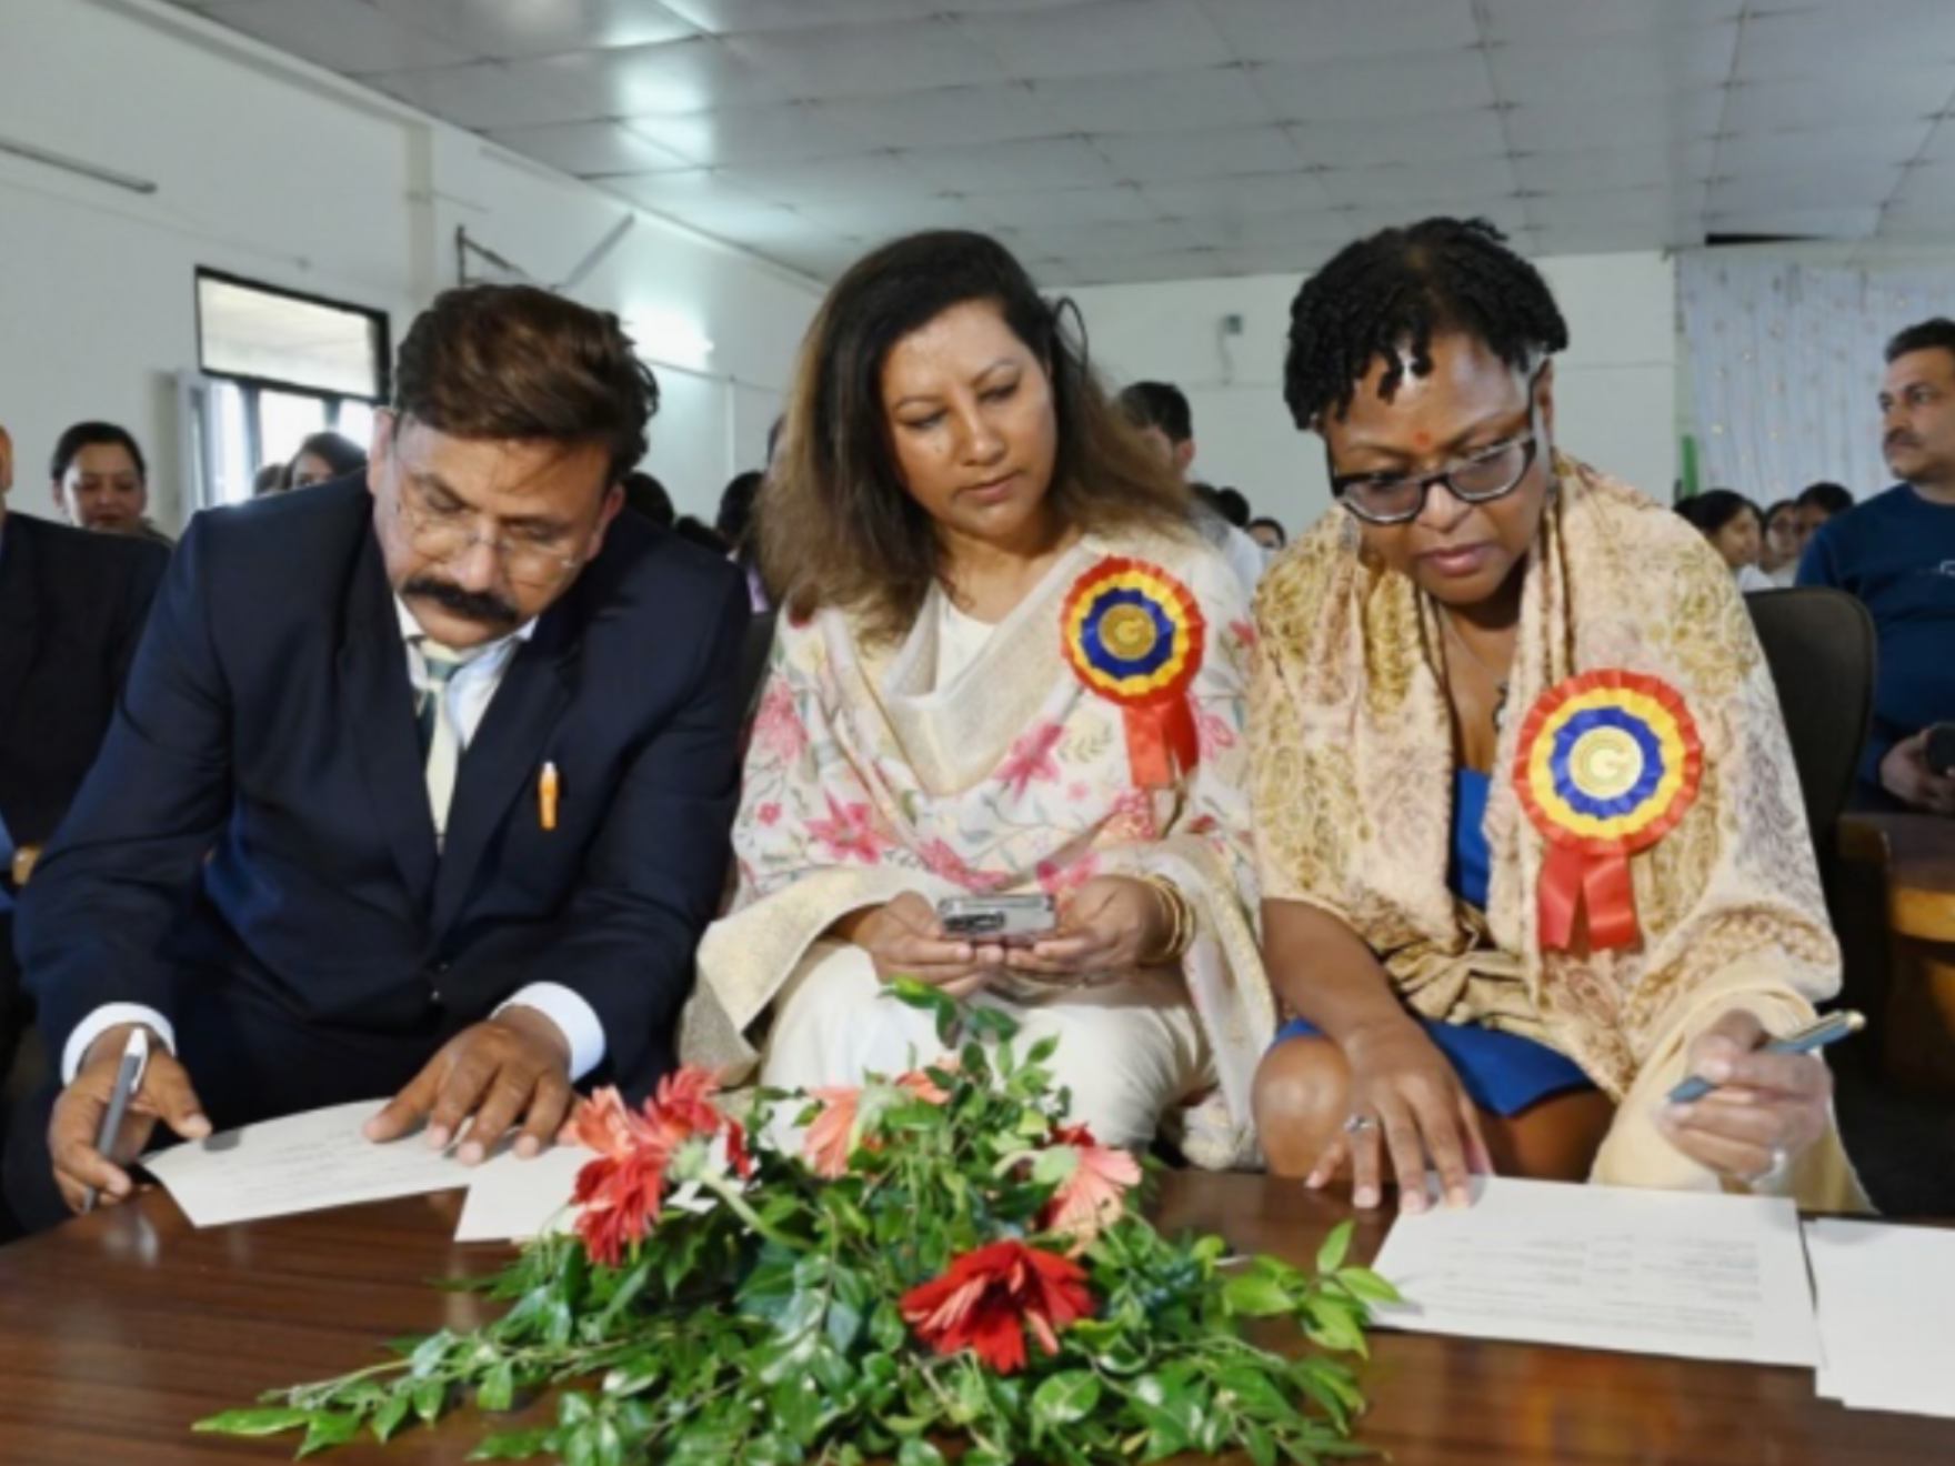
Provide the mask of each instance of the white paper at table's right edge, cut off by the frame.
{"label": "white paper at table's right edge, cut off by the frame", "polygon": [[1806,1257],[1826,1351],[1820,1396],[1955,1419],[1955,1231],[1808,1222]]}

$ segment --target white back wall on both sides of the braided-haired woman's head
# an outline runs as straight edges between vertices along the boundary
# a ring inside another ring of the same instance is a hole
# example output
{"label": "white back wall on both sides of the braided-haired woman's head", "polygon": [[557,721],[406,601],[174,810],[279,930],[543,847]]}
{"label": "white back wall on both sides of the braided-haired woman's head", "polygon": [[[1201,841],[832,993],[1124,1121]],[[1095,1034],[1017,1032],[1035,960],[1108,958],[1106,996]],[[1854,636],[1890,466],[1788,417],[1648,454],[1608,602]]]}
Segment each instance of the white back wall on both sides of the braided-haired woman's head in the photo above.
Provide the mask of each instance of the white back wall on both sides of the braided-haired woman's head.
{"label": "white back wall on both sides of the braided-haired woman's head", "polygon": [[[1662,254],[1539,260],[1572,346],[1556,358],[1556,438],[1668,502],[1677,459],[1675,270]],[[1069,291],[1114,385],[1177,383],[1195,409],[1195,467],[1294,534],[1329,506],[1324,446],[1282,405],[1290,299],[1302,278],[1251,276]],[[1243,334],[1224,338],[1222,317]]]}

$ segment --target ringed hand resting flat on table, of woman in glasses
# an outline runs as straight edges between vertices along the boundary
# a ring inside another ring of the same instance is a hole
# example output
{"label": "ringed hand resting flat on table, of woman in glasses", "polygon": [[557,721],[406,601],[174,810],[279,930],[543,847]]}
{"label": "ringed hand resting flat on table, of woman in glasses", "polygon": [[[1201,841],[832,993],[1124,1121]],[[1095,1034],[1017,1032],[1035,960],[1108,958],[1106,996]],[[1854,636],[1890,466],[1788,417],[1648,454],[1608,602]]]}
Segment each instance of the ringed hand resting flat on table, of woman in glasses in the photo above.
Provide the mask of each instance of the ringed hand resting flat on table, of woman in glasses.
{"label": "ringed hand resting flat on table, of woman in glasses", "polygon": [[1425,1210],[1427,1165],[1439,1173],[1447,1204],[1466,1206],[1468,1177],[1492,1175],[1494,1161],[1480,1136],[1480,1112],[1447,1056],[1412,1020],[1357,1030],[1345,1036],[1343,1054],[1351,1065],[1351,1120],[1324,1147],[1304,1185],[1324,1186],[1349,1165],[1351,1204],[1372,1208],[1384,1194],[1390,1155],[1404,1210]]}

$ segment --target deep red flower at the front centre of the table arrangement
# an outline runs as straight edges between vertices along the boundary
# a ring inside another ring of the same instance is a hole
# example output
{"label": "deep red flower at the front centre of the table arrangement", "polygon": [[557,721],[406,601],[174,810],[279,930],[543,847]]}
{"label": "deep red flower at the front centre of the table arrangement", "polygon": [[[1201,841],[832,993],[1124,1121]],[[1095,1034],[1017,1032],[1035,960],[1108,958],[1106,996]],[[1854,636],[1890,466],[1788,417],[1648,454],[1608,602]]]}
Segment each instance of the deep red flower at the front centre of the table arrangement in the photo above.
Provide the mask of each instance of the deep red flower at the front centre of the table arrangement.
{"label": "deep red flower at the front centre of the table arrangement", "polygon": [[901,1308],[938,1355],[972,1349],[999,1374],[1015,1374],[1024,1368],[1026,1329],[1048,1355],[1060,1353],[1060,1329],[1093,1312],[1093,1294],[1073,1259],[1007,1239],[954,1257],[940,1278],[905,1292]]}

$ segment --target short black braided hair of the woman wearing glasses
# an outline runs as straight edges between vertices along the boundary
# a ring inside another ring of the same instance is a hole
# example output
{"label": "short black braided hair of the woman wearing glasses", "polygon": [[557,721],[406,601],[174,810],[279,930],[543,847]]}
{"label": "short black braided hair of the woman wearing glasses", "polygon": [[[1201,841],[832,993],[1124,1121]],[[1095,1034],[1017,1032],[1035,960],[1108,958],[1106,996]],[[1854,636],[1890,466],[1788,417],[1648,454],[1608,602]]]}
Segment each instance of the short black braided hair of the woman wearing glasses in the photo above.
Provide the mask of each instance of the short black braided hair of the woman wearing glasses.
{"label": "short black braided hair of the woman wearing glasses", "polygon": [[1486,219],[1423,219],[1341,248],[1290,303],[1282,399],[1298,428],[1351,410],[1376,358],[1386,401],[1406,367],[1433,369],[1433,336],[1462,332],[1515,371],[1568,346],[1548,281]]}

